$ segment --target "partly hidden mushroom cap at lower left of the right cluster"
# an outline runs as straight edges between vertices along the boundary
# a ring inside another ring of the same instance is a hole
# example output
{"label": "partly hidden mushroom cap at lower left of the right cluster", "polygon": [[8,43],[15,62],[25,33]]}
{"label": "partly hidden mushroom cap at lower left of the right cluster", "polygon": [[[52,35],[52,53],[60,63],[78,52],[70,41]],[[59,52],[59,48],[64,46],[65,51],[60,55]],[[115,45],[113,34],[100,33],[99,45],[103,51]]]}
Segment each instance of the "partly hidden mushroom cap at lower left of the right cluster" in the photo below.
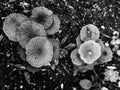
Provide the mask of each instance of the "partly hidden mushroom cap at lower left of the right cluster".
{"label": "partly hidden mushroom cap at lower left of the right cluster", "polygon": [[77,65],[77,66],[81,66],[83,64],[81,58],[80,58],[80,55],[78,54],[78,50],[77,49],[74,49],[72,52],[71,52],[71,60],[72,60],[72,63],[74,65]]}

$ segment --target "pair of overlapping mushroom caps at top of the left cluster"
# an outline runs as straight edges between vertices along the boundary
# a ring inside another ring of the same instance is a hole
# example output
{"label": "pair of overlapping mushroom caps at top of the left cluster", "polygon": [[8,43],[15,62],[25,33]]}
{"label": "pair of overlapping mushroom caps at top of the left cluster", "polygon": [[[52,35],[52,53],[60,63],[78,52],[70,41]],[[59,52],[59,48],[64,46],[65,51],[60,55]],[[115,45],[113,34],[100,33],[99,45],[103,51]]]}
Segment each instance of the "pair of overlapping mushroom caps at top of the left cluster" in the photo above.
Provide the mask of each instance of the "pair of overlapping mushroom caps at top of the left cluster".
{"label": "pair of overlapping mushroom caps at top of the left cluster", "polygon": [[31,19],[43,25],[48,35],[58,32],[60,19],[51,10],[45,7],[36,7],[32,10]]}

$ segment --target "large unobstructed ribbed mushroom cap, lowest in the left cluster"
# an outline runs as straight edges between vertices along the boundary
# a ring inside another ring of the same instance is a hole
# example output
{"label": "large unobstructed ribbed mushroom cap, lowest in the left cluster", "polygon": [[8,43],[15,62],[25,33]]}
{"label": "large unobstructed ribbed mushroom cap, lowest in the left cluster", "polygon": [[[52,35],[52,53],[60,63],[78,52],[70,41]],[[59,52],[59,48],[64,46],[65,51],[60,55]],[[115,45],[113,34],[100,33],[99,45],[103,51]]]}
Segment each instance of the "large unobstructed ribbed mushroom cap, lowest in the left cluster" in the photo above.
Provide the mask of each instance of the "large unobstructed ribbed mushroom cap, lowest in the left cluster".
{"label": "large unobstructed ribbed mushroom cap, lowest in the left cluster", "polygon": [[35,37],[26,45],[26,55],[31,66],[47,66],[53,57],[53,45],[46,37]]}

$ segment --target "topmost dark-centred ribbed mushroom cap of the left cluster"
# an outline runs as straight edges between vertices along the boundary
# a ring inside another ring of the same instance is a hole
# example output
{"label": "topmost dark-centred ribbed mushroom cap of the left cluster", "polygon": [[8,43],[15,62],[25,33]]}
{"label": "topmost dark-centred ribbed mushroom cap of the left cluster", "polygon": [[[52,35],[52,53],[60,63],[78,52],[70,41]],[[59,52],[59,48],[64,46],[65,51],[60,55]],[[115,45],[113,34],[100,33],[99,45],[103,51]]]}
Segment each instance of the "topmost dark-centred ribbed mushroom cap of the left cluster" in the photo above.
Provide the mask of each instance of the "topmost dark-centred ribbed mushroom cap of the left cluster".
{"label": "topmost dark-centred ribbed mushroom cap of the left cluster", "polygon": [[32,10],[31,19],[48,29],[53,23],[52,11],[45,7],[36,7]]}

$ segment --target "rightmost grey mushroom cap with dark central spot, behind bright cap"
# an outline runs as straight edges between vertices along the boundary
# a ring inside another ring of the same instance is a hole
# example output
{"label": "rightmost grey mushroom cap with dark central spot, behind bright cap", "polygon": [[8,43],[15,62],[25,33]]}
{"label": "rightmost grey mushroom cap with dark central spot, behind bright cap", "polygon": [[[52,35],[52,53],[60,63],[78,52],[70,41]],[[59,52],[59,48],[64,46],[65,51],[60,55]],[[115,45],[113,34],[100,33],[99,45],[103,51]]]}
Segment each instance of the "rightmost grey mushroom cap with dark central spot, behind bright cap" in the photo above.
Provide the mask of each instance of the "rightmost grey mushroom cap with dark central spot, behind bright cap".
{"label": "rightmost grey mushroom cap with dark central spot, behind bright cap", "polygon": [[112,53],[110,47],[104,46],[102,48],[102,54],[98,60],[98,63],[103,64],[106,62],[110,62],[112,60],[112,57],[113,57],[113,53]]}

